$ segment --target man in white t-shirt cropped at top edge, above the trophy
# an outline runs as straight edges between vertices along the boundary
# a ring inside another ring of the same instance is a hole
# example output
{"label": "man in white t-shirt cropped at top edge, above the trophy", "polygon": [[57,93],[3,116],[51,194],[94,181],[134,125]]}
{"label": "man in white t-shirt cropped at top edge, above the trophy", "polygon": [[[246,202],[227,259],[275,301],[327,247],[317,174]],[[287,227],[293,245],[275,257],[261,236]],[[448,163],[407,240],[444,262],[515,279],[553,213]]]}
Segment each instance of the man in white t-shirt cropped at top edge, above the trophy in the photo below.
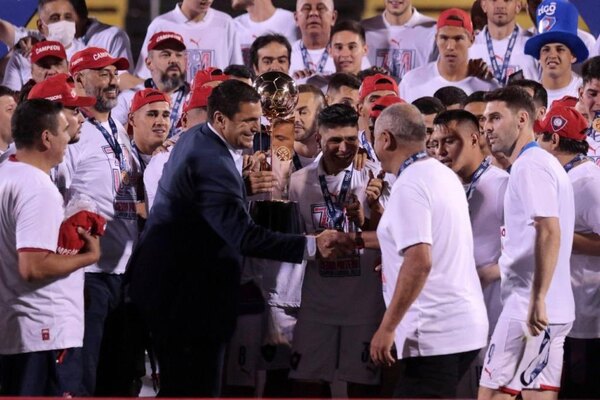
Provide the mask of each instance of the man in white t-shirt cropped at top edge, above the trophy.
{"label": "man in white t-shirt cropped at top edge, above the trophy", "polygon": [[232,0],[231,8],[248,11],[234,19],[238,27],[244,64],[248,67],[251,65],[250,46],[259,36],[275,33],[290,42],[298,39],[294,13],[275,7],[272,0]]}

